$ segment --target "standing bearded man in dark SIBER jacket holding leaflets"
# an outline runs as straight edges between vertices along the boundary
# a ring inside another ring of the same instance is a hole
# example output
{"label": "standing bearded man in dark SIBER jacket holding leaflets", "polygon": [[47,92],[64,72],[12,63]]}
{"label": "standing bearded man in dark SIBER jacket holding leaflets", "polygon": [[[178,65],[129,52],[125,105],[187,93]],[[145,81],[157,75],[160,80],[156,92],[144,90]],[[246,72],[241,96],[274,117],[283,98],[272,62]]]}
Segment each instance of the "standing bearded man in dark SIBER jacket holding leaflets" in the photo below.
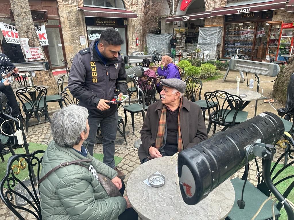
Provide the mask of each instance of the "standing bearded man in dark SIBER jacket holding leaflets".
{"label": "standing bearded man in dark SIBER jacket holding leaflets", "polygon": [[123,38],[113,29],[102,31],[100,39],[92,41],[89,48],[80,50],[74,57],[69,74],[69,90],[88,109],[90,133],[88,151],[93,147],[100,124],[103,136],[103,163],[115,169],[118,177],[125,175],[114,164],[114,141],[117,132],[117,104],[111,104],[114,94],[126,94],[125,64],[119,51]]}

